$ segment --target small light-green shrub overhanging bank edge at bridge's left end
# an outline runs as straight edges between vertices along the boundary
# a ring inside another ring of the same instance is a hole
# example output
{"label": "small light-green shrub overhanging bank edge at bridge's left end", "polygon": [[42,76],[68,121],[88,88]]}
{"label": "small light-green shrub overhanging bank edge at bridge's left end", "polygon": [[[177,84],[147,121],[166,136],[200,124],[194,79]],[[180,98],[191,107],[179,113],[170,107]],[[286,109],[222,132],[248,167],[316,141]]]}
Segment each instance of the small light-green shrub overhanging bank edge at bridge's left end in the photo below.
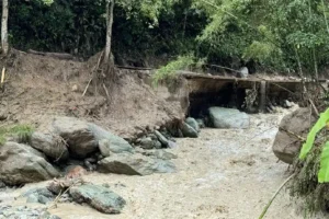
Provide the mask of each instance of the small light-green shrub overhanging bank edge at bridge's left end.
{"label": "small light-green shrub overhanging bank edge at bridge's left end", "polygon": [[177,60],[169,62],[156,71],[152,76],[154,87],[157,87],[159,83],[170,83],[170,81],[177,79],[178,70],[188,70],[194,64],[194,57],[191,55],[178,57]]}

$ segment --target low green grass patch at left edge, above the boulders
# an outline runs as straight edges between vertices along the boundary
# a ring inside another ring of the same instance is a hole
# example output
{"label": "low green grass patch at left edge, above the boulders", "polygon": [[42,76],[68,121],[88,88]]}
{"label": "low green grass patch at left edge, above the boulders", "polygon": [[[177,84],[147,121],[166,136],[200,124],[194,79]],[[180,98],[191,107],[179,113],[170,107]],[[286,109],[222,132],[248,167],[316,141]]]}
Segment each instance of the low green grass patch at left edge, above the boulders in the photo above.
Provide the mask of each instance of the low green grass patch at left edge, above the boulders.
{"label": "low green grass patch at left edge, above the boulders", "polygon": [[14,137],[19,142],[29,142],[34,128],[29,125],[15,125],[0,128],[0,145],[5,142],[8,137]]}

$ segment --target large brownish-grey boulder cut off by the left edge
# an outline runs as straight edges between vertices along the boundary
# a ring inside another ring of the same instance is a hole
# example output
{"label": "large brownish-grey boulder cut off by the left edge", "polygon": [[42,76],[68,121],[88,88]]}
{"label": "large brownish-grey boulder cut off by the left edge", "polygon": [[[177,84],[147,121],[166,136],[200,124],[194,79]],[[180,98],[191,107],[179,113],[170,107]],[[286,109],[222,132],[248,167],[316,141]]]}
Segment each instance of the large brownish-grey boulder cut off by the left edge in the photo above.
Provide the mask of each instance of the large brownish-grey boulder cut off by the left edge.
{"label": "large brownish-grey boulder cut off by the left edge", "polygon": [[38,151],[26,145],[7,142],[0,147],[0,181],[21,185],[59,176]]}

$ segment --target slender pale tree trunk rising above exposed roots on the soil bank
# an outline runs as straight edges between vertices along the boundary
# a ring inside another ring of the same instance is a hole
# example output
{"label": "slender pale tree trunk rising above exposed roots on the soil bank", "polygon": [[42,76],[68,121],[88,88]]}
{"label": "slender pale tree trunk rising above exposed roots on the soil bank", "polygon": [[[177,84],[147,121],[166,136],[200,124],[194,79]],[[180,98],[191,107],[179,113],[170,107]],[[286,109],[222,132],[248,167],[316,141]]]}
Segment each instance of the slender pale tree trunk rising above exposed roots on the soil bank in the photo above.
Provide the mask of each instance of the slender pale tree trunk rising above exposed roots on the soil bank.
{"label": "slender pale tree trunk rising above exposed roots on the soil bank", "polygon": [[113,10],[114,10],[114,0],[107,0],[106,3],[106,46],[104,54],[104,65],[111,65],[111,43],[112,43],[112,25],[113,25]]}

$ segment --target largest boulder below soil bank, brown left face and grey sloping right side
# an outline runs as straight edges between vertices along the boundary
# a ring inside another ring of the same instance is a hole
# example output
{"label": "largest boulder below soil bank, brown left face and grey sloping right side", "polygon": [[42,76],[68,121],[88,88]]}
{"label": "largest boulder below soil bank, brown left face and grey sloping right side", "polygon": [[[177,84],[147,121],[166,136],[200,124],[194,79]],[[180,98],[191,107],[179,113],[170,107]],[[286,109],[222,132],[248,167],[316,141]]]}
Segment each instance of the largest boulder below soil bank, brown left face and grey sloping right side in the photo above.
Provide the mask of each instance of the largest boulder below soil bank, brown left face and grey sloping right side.
{"label": "largest boulder below soil bank, brown left face and grey sloping right side", "polygon": [[57,117],[53,122],[53,131],[61,136],[68,143],[69,152],[77,158],[86,158],[99,150],[99,141],[107,140],[109,151],[114,153],[133,152],[133,147],[123,138],[105,129],[72,117]]}

